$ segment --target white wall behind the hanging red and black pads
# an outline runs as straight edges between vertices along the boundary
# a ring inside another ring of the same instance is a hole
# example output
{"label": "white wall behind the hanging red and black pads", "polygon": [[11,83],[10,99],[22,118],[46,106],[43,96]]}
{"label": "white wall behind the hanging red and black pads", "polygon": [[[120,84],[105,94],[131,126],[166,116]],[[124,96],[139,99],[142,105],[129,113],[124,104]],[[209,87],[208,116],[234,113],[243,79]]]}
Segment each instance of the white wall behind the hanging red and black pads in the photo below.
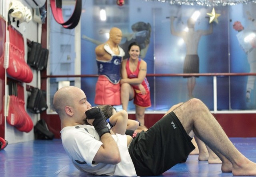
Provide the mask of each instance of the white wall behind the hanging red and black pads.
{"label": "white wall behind the hanging red and black pads", "polygon": [[[27,6],[32,14],[33,9],[28,5],[28,3],[25,0],[19,0],[24,6]],[[0,0],[0,15],[4,17],[6,22],[8,21],[8,10],[9,10],[9,4],[12,2],[12,0]],[[27,39],[34,42],[41,42],[41,34],[40,34],[40,28],[41,25],[37,24],[33,20],[26,23],[23,22],[19,24],[19,27],[17,27],[16,22],[12,22],[12,26],[18,30],[23,38],[24,38],[24,46],[25,46],[25,60],[27,58]],[[39,30],[38,30],[39,29]],[[39,31],[39,32],[38,32]],[[8,36],[8,31],[7,31]],[[8,42],[8,37],[6,38],[6,41]],[[24,95],[25,95],[25,109],[26,109],[26,100],[28,97],[29,92],[26,91],[26,85],[30,85],[33,87],[40,88],[40,72],[36,72],[35,70],[32,70],[33,72],[33,80],[30,83],[23,83],[24,87]],[[6,85],[6,95],[8,95],[8,86]],[[37,114],[28,113],[35,125],[37,120],[39,120],[39,116]],[[5,121],[6,122],[6,121]],[[5,137],[4,137],[9,143],[18,143],[18,142],[24,142],[24,141],[30,141],[34,140],[34,131],[30,131],[29,133],[18,131],[15,127],[8,125],[6,123],[5,126]]]}

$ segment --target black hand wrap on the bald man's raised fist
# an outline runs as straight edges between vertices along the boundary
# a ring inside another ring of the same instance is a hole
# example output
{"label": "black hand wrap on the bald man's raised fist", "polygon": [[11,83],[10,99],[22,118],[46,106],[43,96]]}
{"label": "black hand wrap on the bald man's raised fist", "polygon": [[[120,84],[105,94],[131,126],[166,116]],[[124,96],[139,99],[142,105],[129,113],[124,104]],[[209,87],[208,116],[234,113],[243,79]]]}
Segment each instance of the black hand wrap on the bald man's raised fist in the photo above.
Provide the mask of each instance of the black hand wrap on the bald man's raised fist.
{"label": "black hand wrap on the bald man's raised fist", "polygon": [[92,125],[101,137],[105,133],[110,133],[106,125],[106,117],[98,107],[93,107],[85,112],[87,119],[94,119]]}

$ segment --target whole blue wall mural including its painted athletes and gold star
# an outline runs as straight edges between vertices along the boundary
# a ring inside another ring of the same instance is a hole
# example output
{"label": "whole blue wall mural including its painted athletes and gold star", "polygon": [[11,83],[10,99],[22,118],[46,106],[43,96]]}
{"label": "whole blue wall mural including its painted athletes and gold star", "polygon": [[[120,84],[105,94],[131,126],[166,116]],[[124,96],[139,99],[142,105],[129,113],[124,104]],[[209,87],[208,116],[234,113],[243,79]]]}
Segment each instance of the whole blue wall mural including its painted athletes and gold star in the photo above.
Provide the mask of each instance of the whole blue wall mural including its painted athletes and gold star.
{"label": "whole blue wall mural including its painted athletes and gold star", "polygon": [[[170,5],[126,1],[123,6],[85,3],[81,16],[81,74],[97,74],[94,50],[108,40],[110,28],[122,30],[121,46],[140,42],[147,74],[255,73],[256,4],[234,6]],[[101,19],[100,11],[106,13]],[[135,28],[136,27],[136,28]],[[147,77],[152,107],[166,110],[191,97],[213,109],[213,77]],[[82,78],[82,89],[93,103],[97,78]],[[255,76],[218,76],[218,110],[255,109]],[[131,102],[130,110],[134,110]]]}

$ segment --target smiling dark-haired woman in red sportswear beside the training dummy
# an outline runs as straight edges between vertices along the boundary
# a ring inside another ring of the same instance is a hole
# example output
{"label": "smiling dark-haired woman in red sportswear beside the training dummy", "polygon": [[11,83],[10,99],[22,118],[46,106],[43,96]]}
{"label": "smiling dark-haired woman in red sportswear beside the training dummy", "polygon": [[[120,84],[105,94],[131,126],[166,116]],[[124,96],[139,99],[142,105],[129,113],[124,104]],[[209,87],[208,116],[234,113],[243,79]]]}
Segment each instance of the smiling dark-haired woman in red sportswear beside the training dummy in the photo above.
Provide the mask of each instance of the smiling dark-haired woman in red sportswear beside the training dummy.
{"label": "smiling dark-haired woman in red sportswear beside the training dummy", "polygon": [[144,125],[145,109],[151,106],[150,87],[147,74],[147,63],[139,58],[140,45],[132,42],[128,46],[129,58],[122,61],[121,75],[121,102],[127,111],[129,100],[134,99],[136,106],[136,120]]}

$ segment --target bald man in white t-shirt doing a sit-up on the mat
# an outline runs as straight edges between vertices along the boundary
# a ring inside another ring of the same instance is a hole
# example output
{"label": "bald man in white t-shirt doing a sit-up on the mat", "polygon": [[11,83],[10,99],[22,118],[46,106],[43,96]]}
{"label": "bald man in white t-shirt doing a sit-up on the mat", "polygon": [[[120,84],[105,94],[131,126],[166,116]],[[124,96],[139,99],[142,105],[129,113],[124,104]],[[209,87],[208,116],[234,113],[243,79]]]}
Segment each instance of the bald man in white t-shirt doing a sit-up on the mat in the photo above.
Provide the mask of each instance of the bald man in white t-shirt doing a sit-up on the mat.
{"label": "bald man in white t-shirt doing a sit-up on the mat", "polygon": [[[256,163],[236,149],[199,99],[171,107],[162,119],[134,139],[111,135],[100,109],[90,105],[80,88],[59,89],[53,105],[60,116],[62,145],[80,171],[104,176],[161,175],[194,149],[188,135],[193,130],[220,157],[222,172],[256,176]],[[84,125],[86,121],[90,125]]]}

